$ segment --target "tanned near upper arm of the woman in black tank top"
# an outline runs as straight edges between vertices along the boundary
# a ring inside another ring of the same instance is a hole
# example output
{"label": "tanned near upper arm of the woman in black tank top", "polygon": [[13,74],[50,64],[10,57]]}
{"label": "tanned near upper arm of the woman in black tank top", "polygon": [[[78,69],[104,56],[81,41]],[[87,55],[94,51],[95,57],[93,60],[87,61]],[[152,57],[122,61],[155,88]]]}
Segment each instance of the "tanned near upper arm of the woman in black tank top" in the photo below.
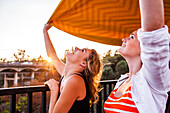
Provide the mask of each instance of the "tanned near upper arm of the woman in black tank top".
{"label": "tanned near upper arm of the woman in black tank top", "polygon": [[55,113],[68,113],[75,100],[83,92],[83,78],[71,76],[65,84],[59,99],[54,107]]}

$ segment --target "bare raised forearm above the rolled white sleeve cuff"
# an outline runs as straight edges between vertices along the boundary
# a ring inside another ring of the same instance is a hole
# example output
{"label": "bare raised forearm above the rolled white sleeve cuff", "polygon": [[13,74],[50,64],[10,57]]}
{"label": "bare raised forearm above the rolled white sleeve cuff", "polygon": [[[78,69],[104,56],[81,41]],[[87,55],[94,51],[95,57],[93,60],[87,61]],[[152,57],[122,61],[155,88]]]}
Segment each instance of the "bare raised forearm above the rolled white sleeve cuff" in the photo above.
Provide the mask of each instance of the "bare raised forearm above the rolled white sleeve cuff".
{"label": "bare raised forearm above the rolled white sleeve cuff", "polygon": [[163,0],[139,0],[143,31],[153,31],[164,26]]}

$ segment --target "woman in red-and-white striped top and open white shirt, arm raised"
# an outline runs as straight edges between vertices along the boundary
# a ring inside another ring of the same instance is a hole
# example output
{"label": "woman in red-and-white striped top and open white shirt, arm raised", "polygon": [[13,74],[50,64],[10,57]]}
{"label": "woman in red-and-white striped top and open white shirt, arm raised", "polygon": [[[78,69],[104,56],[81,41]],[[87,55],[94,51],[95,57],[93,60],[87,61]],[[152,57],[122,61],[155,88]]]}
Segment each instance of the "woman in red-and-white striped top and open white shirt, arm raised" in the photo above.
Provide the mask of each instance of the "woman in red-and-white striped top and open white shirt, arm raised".
{"label": "woman in red-and-white striped top and open white shirt, arm raised", "polygon": [[170,91],[168,27],[163,0],[139,0],[141,29],[123,39],[120,54],[129,73],[122,75],[104,104],[105,113],[164,113]]}

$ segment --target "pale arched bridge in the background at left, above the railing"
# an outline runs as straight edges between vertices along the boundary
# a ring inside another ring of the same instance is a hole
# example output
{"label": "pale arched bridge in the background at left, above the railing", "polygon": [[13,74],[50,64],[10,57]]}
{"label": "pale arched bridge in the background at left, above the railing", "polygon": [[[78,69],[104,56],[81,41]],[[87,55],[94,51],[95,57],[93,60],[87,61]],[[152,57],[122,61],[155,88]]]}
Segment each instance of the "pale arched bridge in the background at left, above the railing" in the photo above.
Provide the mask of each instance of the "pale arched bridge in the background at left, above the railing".
{"label": "pale arched bridge in the background at left, above the railing", "polygon": [[36,77],[47,78],[51,66],[49,63],[11,62],[0,63],[0,87],[7,88],[18,84],[29,85]]}

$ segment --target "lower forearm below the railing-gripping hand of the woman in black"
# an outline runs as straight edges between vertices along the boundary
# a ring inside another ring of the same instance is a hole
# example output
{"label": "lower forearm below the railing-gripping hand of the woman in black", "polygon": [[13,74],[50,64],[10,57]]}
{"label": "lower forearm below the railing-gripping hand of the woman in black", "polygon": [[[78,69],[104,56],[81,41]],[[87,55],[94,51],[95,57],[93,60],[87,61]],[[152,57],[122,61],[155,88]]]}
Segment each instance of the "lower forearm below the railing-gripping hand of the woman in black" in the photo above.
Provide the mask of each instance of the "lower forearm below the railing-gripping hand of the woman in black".
{"label": "lower forearm below the railing-gripping hand of the woman in black", "polygon": [[58,97],[58,93],[51,92],[49,113],[53,113],[54,107],[57,103],[57,97]]}

